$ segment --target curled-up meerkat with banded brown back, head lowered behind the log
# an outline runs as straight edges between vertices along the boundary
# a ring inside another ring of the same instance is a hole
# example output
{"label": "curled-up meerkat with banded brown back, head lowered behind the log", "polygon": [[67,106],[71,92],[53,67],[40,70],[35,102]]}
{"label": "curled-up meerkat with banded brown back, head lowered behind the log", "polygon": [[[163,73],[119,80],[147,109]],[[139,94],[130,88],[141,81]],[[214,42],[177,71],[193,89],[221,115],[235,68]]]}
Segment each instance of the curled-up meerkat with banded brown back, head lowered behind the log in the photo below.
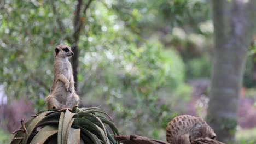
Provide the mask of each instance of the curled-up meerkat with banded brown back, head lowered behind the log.
{"label": "curled-up meerkat with banded brown back, head lowered behind the log", "polygon": [[172,119],[166,128],[166,140],[171,144],[190,144],[197,138],[216,139],[213,129],[203,119],[181,115]]}

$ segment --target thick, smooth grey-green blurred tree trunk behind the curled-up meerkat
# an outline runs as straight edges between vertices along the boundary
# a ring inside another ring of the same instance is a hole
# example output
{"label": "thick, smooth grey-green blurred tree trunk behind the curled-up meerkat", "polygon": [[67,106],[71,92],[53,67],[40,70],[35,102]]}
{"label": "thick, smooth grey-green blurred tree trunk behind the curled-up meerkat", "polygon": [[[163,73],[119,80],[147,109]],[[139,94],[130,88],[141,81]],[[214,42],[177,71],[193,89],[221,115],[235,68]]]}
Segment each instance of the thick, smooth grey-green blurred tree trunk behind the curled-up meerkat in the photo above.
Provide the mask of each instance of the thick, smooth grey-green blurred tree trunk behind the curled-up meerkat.
{"label": "thick, smooth grey-green blurred tree trunk behind the curled-up meerkat", "polygon": [[207,121],[224,142],[234,140],[238,97],[253,34],[249,21],[253,1],[212,0],[215,47]]}

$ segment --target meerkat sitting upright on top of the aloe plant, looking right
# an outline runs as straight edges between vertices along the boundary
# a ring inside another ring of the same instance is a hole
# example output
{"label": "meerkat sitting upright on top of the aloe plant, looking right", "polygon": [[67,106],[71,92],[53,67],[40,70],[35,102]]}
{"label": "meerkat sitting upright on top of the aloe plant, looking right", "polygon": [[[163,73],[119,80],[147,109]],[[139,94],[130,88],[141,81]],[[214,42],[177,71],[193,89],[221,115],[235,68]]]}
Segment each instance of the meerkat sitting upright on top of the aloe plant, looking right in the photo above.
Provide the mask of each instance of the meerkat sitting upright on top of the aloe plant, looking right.
{"label": "meerkat sitting upright on top of the aloe plant, looking right", "polygon": [[58,45],[55,48],[54,81],[50,94],[46,97],[48,109],[72,108],[79,103],[74,89],[74,78],[68,57],[73,56],[71,47]]}

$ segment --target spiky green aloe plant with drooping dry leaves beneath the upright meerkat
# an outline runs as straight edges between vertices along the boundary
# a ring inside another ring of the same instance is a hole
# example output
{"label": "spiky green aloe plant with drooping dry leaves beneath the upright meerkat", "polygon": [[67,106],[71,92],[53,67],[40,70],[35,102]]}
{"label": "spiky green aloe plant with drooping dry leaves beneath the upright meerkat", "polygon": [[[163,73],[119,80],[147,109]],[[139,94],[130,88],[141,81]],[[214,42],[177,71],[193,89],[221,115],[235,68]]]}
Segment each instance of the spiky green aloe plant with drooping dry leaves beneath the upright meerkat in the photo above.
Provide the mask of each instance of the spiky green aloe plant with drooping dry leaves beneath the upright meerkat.
{"label": "spiky green aloe plant with drooping dry leaves beneath the upright meerkat", "polygon": [[[115,144],[115,125],[98,108],[53,109],[39,112],[16,131],[11,144],[91,143]],[[104,114],[104,115],[101,115]],[[108,116],[111,120],[112,118]],[[107,129],[111,129],[113,134]]]}

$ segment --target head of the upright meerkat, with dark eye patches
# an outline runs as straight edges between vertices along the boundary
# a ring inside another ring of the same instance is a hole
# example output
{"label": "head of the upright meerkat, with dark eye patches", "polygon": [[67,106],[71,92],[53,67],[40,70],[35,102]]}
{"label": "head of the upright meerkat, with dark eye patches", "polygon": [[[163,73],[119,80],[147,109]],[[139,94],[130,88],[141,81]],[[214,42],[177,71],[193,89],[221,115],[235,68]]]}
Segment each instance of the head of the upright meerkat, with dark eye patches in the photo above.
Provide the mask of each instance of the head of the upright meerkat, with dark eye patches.
{"label": "head of the upright meerkat, with dark eye patches", "polygon": [[55,48],[55,57],[66,58],[73,55],[74,52],[72,52],[71,47],[67,45],[57,45]]}

